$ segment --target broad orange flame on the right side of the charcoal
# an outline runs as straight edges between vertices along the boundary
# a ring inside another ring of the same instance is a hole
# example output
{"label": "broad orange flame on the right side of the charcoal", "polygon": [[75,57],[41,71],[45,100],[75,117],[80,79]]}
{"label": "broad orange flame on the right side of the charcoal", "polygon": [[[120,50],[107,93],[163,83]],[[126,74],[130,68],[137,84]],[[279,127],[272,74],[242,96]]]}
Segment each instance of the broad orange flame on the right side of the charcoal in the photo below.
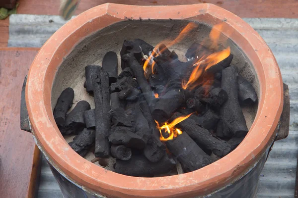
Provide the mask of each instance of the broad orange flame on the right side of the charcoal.
{"label": "broad orange flame on the right side of the charcoal", "polygon": [[[202,82],[200,81],[198,82],[197,80],[202,76],[203,72],[208,70],[213,65],[216,65],[217,63],[227,58],[229,54],[230,54],[230,47],[227,47],[222,51],[212,53],[205,59],[203,59],[204,58],[203,56],[200,60],[198,60],[195,64],[193,64],[195,68],[193,69],[188,81],[187,82],[185,80],[182,81],[182,88],[183,89],[188,88],[192,90],[193,88],[202,84]],[[201,66],[201,65],[204,65],[204,66]]]}

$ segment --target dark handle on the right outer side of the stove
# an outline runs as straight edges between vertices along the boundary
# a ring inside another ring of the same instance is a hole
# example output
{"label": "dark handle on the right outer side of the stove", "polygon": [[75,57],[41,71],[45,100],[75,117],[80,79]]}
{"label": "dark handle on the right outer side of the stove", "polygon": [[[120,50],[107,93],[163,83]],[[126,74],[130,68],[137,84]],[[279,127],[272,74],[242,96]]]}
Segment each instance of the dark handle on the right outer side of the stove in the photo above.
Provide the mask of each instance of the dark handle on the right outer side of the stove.
{"label": "dark handle on the right outer side of the stove", "polygon": [[290,95],[289,87],[284,83],[284,108],[277,127],[277,136],[275,141],[285,139],[289,135],[290,129]]}

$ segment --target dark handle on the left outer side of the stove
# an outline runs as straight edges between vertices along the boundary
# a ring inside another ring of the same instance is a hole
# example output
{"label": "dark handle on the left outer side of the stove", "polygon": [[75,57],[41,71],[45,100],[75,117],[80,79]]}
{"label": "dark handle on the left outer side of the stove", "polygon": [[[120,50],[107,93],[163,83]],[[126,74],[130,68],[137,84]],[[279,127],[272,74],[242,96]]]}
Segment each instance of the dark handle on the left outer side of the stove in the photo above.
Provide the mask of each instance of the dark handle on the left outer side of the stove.
{"label": "dark handle on the left outer side of the stove", "polygon": [[20,126],[21,126],[21,130],[31,132],[29,116],[28,116],[28,111],[26,106],[26,99],[25,99],[26,83],[27,83],[27,75],[25,76],[22,92],[21,92]]}

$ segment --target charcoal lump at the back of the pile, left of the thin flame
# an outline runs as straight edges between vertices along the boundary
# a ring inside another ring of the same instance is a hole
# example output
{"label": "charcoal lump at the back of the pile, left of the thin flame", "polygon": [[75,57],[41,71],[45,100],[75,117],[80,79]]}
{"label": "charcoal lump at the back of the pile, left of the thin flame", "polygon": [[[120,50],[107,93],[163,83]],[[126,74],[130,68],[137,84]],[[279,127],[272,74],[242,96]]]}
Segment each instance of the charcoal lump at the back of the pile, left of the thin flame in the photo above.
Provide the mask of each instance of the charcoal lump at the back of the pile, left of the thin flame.
{"label": "charcoal lump at the back of the pile, left of the thin flame", "polygon": [[[132,56],[134,56],[139,63],[142,59],[142,48],[138,45],[136,45],[132,41],[124,41],[122,45],[122,49],[120,51],[120,56],[122,57],[124,54],[132,53]],[[124,69],[128,67],[128,64],[125,62],[125,60],[121,60],[121,68]]]}

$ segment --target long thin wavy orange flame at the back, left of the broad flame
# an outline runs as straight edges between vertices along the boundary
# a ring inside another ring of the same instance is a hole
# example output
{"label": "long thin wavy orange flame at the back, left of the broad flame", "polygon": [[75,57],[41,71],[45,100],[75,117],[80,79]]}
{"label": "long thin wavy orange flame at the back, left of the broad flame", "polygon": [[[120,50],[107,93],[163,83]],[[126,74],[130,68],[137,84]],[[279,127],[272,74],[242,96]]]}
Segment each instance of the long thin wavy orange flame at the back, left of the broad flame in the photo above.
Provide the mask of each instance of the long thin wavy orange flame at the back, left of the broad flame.
{"label": "long thin wavy orange flame at the back, left of the broad flame", "polygon": [[151,63],[151,72],[152,74],[154,73],[154,64],[155,62],[152,60],[154,57],[156,57],[157,55],[160,55],[164,49],[161,49],[159,50],[158,47],[161,45],[161,44],[164,44],[167,48],[168,47],[171,47],[173,46],[174,44],[176,43],[179,43],[181,42],[186,36],[187,34],[193,30],[194,28],[198,27],[198,24],[196,23],[193,23],[193,22],[190,22],[188,23],[184,28],[183,30],[179,33],[179,35],[177,36],[176,39],[174,39],[173,41],[170,41],[170,40],[165,40],[165,41],[162,41],[160,43],[158,43],[155,48],[152,50],[152,53],[151,55],[147,58],[147,60],[145,61],[144,63],[144,66],[143,66],[143,69],[144,69],[144,72],[146,73],[146,70],[147,70],[147,67],[149,67],[149,63]]}

